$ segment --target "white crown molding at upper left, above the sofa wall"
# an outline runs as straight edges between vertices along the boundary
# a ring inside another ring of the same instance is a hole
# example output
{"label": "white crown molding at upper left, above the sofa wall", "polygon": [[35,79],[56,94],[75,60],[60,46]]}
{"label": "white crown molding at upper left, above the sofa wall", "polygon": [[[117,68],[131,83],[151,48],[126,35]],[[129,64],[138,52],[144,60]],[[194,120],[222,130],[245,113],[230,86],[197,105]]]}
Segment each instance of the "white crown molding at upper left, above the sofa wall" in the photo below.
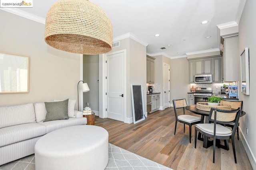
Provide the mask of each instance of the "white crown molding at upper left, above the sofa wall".
{"label": "white crown molding at upper left, above the sofa wall", "polygon": [[45,24],[45,19],[44,18],[35,16],[33,14],[30,14],[28,12],[19,10],[17,8],[0,8],[0,10],[6,11],[6,12],[10,12],[10,13],[15,14],[17,16],[21,16],[21,17],[27,18],[29,20],[33,20],[33,21]]}

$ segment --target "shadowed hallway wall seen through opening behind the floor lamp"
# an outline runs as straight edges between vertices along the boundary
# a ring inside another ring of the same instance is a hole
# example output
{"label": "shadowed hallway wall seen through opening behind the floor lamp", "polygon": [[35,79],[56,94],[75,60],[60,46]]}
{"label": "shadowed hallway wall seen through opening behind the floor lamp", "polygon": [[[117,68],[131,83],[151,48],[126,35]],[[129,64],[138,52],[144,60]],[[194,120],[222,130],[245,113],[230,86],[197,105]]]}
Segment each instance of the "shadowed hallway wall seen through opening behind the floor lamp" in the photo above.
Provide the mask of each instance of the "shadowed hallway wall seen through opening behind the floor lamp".
{"label": "shadowed hallway wall seen through opening behind the floor lamp", "polygon": [[83,56],[83,80],[90,88],[89,92],[83,93],[84,107],[88,103],[92,111],[99,115],[99,55]]}

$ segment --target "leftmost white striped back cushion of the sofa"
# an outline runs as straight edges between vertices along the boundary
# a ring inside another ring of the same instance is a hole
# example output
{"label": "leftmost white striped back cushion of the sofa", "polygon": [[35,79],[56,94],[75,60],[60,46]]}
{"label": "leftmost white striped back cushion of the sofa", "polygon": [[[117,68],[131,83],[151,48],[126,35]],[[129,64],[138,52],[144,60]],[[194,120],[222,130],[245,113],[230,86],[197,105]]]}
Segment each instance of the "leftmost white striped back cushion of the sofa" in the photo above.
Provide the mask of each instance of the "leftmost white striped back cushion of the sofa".
{"label": "leftmost white striped back cushion of the sofa", "polygon": [[0,128],[35,122],[33,104],[0,107]]}

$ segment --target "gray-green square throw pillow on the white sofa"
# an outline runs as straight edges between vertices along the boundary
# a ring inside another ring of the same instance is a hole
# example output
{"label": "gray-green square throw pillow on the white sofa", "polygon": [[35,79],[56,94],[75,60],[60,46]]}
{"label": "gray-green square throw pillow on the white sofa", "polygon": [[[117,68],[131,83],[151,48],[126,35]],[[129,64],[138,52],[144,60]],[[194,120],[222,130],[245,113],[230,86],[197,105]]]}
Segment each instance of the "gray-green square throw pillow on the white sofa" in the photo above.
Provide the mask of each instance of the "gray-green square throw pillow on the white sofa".
{"label": "gray-green square throw pillow on the white sofa", "polygon": [[68,119],[68,99],[60,102],[44,102],[46,107],[45,121]]}

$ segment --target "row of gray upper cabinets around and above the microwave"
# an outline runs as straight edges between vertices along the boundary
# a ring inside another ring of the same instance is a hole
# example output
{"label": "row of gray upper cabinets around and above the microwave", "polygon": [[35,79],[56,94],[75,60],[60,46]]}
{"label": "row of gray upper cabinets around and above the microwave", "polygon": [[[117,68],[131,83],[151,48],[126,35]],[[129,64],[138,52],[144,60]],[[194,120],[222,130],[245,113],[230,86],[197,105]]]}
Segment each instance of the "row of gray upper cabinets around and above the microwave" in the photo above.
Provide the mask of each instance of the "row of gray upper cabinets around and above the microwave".
{"label": "row of gray upper cabinets around and above the microwave", "polygon": [[189,60],[189,82],[194,83],[198,74],[212,74],[212,82],[222,82],[222,57],[207,57]]}

